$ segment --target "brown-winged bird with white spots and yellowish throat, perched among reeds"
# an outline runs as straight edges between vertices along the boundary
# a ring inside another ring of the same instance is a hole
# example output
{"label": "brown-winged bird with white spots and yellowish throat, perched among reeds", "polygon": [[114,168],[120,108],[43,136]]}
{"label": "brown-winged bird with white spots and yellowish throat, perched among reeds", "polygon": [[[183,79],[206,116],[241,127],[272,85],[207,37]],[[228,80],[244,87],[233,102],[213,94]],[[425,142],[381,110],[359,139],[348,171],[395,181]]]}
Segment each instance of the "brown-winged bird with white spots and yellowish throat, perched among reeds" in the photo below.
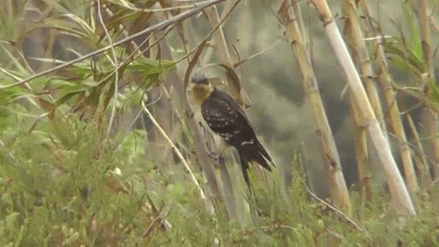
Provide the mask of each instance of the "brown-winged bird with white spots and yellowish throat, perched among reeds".
{"label": "brown-winged bird with white spots and yellowish throat, perched among reeds", "polygon": [[244,180],[252,193],[248,178],[249,163],[257,163],[272,172],[276,167],[254,132],[252,124],[237,100],[209,82],[206,72],[195,68],[187,86],[195,121],[210,132],[217,145],[217,157],[233,147],[241,162]]}

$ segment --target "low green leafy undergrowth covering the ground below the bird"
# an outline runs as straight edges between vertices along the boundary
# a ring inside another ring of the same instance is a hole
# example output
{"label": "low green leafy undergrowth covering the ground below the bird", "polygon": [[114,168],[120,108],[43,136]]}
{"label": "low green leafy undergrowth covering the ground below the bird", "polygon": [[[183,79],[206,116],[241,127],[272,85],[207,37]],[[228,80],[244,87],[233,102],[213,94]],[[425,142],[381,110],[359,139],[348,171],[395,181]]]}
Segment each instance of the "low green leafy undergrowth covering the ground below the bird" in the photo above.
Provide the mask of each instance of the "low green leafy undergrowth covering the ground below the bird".
{"label": "low green leafy undergrowth covering the ground below the bird", "polygon": [[[145,154],[143,130],[115,146],[99,137],[96,124],[75,117],[67,126],[55,118],[29,132],[18,116],[1,119],[1,246],[439,244],[437,205],[425,195],[415,196],[418,215],[401,224],[388,196],[366,205],[353,192],[354,226],[310,197],[296,171],[289,193],[278,183],[257,190],[259,217],[241,226],[228,220],[221,205],[209,215],[180,165],[169,164],[169,173],[160,175]],[[112,172],[116,167],[121,174]]]}

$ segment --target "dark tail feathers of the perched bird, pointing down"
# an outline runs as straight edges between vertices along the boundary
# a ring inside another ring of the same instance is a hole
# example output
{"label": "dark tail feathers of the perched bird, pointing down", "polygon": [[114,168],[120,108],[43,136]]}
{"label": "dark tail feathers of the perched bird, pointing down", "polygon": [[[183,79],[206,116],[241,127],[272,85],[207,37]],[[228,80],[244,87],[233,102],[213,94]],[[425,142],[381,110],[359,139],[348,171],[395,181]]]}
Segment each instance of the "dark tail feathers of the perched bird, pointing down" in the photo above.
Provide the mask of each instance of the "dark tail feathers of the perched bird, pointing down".
{"label": "dark tail feathers of the perched bird, pointing down", "polygon": [[[252,189],[250,187],[250,179],[248,178],[248,163],[254,161],[267,169],[269,172],[271,172],[272,167],[268,165],[267,161],[270,161],[270,163],[272,163],[272,158],[270,157],[270,155],[268,155],[267,151],[265,150],[265,148],[263,148],[263,145],[258,140],[243,144],[244,145],[240,145],[239,147],[237,147],[237,151],[239,154],[239,159],[241,161],[241,169],[242,174],[244,175],[244,180],[246,181],[250,193],[252,193]],[[272,165],[274,166],[273,163]]]}

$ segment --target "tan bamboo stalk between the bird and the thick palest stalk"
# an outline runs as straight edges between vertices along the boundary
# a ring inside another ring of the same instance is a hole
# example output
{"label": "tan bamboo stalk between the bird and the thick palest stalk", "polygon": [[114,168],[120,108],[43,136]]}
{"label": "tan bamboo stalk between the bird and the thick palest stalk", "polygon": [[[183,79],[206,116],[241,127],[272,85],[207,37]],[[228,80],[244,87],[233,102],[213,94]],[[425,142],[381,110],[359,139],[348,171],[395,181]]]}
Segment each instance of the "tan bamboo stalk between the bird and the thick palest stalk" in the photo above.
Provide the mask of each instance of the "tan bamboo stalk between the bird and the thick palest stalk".
{"label": "tan bamboo stalk between the bird and the thick palest stalk", "polygon": [[297,16],[295,16],[292,11],[289,11],[289,6],[289,1],[283,1],[279,14],[281,14],[288,40],[292,42],[292,51],[302,72],[303,88],[305,95],[307,95],[309,105],[311,106],[314,121],[316,122],[316,133],[320,139],[320,155],[322,156],[324,169],[329,179],[331,199],[337,207],[350,213],[351,199],[349,198],[346,182],[344,181],[337,147],[335,146],[331,127],[329,126],[322,98],[318,91],[316,76],[314,75],[311,61],[307,55],[300,28],[296,22]]}

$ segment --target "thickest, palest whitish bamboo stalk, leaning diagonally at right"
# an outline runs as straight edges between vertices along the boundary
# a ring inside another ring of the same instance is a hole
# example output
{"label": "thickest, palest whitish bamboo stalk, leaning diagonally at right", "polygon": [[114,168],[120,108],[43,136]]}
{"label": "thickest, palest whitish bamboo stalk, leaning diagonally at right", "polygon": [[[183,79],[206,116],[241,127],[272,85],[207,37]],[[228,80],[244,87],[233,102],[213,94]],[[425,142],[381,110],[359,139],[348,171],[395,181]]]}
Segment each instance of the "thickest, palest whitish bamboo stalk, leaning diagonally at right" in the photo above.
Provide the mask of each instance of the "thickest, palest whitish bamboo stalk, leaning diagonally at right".
{"label": "thickest, palest whitish bamboo stalk, leaning diagonally at right", "polygon": [[405,187],[403,178],[396,166],[388,140],[379,126],[379,121],[375,117],[375,113],[370,105],[369,99],[366,95],[361,80],[355,69],[348,49],[344,44],[340,30],[338,30],[329,5],[325,0],[309,0],[319,12],[320,21],[324,26],[325,32],[331,43],[331,47],[335,51],[337,60],[340,62],[342,70],[349,82],[349,90],[353,91],[354,98],[357,100],[360,114],[364,117],[365,126],[372,141],[372,144],[377,151],[379,161],[383,167],[383,172],[388,180],[390,194],[395,202],[396,209],[402,215],[414,215],[416,211],[410,199],[407,188]]}

